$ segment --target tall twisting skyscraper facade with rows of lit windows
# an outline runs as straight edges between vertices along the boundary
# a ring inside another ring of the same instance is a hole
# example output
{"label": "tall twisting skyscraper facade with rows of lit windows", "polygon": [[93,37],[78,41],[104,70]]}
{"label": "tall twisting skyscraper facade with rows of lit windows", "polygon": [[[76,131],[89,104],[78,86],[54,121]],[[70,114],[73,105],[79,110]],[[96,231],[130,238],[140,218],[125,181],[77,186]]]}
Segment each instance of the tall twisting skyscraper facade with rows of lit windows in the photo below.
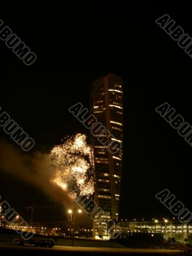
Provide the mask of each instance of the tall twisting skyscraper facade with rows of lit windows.
{"label": "tall twisting skyscraper facade with rows of lit windows", "polygon": [[[113,74],[92,83],[91,112],[103,125],[91,133],[95,166],[95,202],[110,220],[117,220],[122,177],[123,86]],[[106,130],[105,130],[106,129]],[[116,146],[115,146],[115,143]],[[114,147],[113,147],[113,146]]]}

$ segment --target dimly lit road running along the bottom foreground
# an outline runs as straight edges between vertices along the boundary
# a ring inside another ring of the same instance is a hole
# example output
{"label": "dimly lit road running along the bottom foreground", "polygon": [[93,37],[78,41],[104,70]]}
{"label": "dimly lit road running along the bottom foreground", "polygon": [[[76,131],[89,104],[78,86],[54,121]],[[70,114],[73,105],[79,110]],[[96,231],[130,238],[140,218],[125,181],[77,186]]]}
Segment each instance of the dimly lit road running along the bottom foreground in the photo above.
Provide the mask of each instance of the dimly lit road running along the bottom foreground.
{"label": "dimly lit road running along the bottom foreground", "polygon": [[[4,252],[4,253],[3,253]],[[132,249],[132,248],[93,248],[54,246],[53,248],[36,248],[33,246],[15,246],[0,244],[0,253],[5,255],[182,255],[180,250]],[[14,254],[13,254],[14,253]]]}

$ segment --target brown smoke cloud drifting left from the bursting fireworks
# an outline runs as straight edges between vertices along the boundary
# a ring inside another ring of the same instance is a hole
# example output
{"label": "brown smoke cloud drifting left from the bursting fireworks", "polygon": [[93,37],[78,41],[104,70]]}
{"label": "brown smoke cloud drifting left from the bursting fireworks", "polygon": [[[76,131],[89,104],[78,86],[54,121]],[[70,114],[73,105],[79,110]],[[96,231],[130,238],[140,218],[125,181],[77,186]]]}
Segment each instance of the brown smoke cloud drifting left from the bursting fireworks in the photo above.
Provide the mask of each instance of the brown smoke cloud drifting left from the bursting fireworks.
{"label": "brown smoke cloud drifting left from the bursting fireworks", "polygon": [[54,166],[49,154],[35,152],[29,156],[10,143],[0,141],[0,169],[35,185],[56,202],[70,203],[67,193],[50,182]]}

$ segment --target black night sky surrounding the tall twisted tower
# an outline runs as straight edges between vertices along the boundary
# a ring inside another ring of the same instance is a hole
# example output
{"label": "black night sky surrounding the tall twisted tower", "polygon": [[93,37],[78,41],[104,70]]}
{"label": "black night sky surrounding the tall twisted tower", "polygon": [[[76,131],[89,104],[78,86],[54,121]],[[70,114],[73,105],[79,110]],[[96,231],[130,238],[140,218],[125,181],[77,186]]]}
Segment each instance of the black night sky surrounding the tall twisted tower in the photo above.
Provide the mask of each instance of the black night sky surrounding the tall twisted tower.
{"label": "black night sky surrounding the tall twisted tower", "polygon": [[[122,76],[120,216],[130,220],[171,216],[155,198],[164,188],[192,211],[192,148],[155,111],[169,102],[192,125],[192,60],[155,22],[168,13],[192,36],[191,9],[186,3],[162,1],[69,2],[15,6],[12,12],[1,13],[0,19],[36,53],[37,60],[27,67],[0,41],[0,106],[34,138],[32,151],[49,152],[68,134],[88,134],[68,108],[76,102],[89,108],[92,81],[109,72]],[[3,129],[0,138],[15,145]],[[26,218],[25,206],[31,202],[52,204],[32,185],[3,172],[0,188]],[[62,219],[58,212],[51,218]]]}

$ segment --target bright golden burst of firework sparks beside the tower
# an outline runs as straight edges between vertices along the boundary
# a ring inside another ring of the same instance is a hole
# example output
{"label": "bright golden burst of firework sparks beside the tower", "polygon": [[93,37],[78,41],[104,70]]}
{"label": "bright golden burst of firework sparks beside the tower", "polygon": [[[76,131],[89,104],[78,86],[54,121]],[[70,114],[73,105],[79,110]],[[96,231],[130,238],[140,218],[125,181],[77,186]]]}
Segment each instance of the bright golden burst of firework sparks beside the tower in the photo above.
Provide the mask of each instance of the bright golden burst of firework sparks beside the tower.
{"label": "bright golden burst of firework sparks beside the tower", "polygon": [[79,190],[79,195],[93,195],[92,152],[84,134],[78,133],[52,148],[51,159],[56,170],[51,179],[53,184],[65,191]]}

